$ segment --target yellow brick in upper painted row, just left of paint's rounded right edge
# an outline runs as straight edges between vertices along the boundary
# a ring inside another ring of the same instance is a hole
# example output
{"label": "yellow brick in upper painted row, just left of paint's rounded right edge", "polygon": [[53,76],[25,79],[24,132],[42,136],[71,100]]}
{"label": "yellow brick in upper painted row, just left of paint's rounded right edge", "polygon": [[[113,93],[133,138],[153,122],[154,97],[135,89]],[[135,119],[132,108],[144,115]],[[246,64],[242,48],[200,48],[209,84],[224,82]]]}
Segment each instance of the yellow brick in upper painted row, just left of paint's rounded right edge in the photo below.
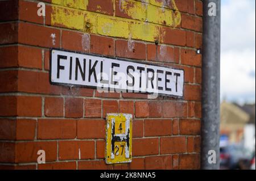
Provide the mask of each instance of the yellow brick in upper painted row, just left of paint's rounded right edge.
{"label": "yellow brick in upper painted row, just left of paint's rounded right edge", "polygon": [[161,7],[148,5],[147,20],[148,22],[152,22],[156,24],[174,26],[174,15],[172,10],[162,9]]}

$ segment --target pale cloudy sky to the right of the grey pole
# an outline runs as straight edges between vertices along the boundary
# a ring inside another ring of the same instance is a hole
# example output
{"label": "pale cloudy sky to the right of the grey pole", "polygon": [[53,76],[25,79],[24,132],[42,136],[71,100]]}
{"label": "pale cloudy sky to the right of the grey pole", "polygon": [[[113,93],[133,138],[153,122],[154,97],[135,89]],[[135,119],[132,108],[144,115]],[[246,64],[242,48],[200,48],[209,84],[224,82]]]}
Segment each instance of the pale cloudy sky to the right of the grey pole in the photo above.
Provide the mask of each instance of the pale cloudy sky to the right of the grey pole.
{"label": "pale cloudy sky to the right of the grey pole", "polygon": [[221,1],[221,100],[255,103],[255,0]]}

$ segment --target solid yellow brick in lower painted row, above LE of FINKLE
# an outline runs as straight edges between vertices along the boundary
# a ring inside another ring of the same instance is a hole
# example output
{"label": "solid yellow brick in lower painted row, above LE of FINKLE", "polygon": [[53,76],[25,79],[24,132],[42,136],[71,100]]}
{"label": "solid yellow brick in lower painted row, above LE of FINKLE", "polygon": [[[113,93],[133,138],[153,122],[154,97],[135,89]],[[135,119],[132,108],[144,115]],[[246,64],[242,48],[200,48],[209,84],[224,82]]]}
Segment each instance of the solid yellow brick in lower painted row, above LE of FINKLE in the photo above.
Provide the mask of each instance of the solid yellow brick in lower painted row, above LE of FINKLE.
{"label": "solid yellow brick in lower painted row, above LE of FINKLE", "polygon": [[100,35],[124,37],[127,39],[129,37],[129,22],[98,16],[97,32]]}

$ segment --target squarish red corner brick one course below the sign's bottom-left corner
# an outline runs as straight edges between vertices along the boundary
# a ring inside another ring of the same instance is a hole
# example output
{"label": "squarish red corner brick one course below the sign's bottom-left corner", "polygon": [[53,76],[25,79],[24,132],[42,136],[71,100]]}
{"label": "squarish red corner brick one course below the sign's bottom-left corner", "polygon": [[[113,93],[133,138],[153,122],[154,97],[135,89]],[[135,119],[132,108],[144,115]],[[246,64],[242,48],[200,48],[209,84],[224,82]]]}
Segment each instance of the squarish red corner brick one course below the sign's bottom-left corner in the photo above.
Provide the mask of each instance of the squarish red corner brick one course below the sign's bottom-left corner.
{"label": "squarish red corner brick one course below the sign's bottom-left corner", "polygon": [[42,116],[42,98],[36,96],[17,96],[17,115]]}

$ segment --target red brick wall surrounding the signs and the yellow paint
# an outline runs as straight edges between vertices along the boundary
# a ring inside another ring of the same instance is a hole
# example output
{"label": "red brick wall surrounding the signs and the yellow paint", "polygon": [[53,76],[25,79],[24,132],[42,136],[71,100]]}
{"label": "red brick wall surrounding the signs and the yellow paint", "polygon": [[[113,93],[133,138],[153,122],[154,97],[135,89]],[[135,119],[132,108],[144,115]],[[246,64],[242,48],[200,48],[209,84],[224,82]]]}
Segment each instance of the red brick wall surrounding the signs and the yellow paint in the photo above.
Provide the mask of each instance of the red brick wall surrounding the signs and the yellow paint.
{"label": "red brick wall surrounding the signs and the yellow paint", "polygon": [[[37,2],[0,1],[0,169],[199,169],[201,55],[196,49],[202,43],[202,2],[176,0],[181,23],[162,24],[165,36],[157,46],[135,39],[131,52],[126,37],[52,25],[48,14],[36,15]],[[51,1],[44,2],[50,13]],[[96,2],[89,0],[82,11],[134,21],[113,1]],[[88,47],[81,45],[84,36]],[[184,98],[50,85],[49,48],[182,68]],[[118,112],[134,116],[133,161],[106,165],[105,117]],[[37,163],[40,149],[46,151],[46,164]]]}

